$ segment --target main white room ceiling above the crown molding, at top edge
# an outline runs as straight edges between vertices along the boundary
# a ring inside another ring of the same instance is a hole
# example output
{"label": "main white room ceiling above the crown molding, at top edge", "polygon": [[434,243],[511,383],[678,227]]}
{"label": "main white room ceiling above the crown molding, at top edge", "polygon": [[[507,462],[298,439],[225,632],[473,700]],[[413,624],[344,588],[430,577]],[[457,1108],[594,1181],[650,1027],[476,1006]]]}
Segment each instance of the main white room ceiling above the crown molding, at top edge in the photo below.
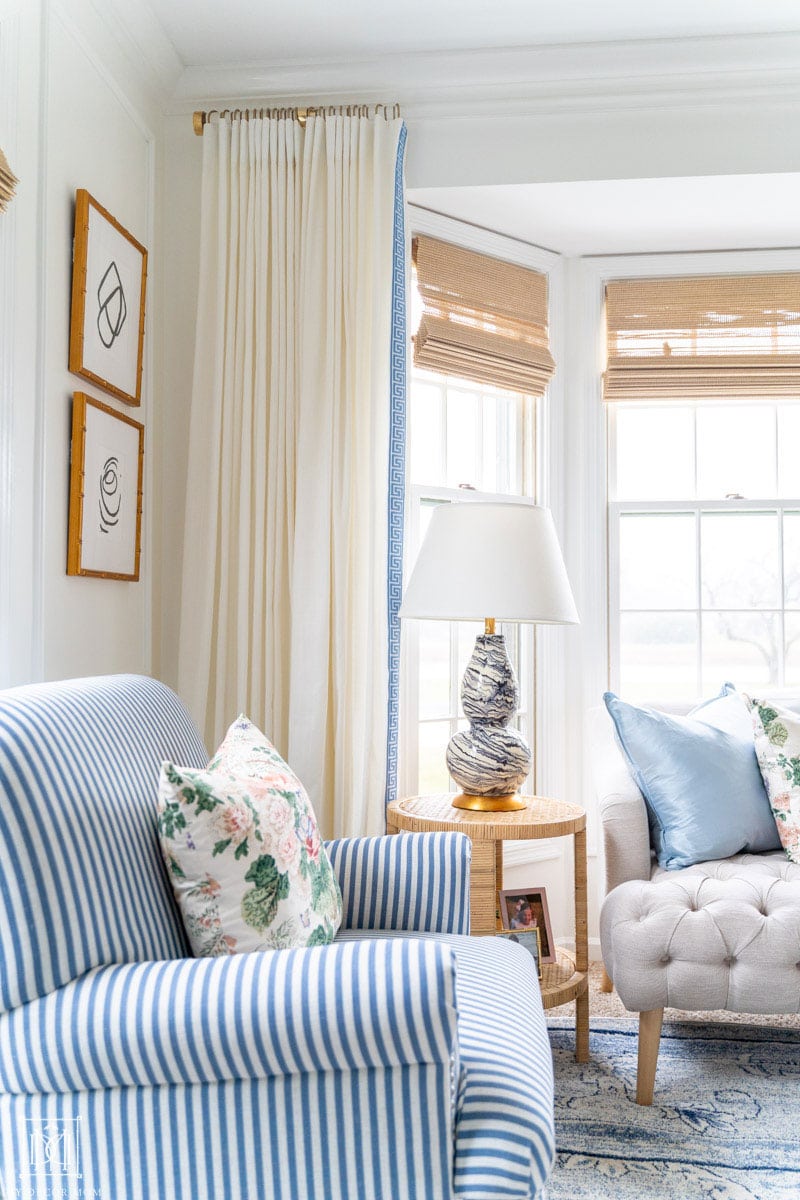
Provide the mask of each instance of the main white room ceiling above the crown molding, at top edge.
{"label": "main white room ceiling above the crown molding, at top edge", "polygon": [[186,67],[800,31],[796,0],[149,2]]}

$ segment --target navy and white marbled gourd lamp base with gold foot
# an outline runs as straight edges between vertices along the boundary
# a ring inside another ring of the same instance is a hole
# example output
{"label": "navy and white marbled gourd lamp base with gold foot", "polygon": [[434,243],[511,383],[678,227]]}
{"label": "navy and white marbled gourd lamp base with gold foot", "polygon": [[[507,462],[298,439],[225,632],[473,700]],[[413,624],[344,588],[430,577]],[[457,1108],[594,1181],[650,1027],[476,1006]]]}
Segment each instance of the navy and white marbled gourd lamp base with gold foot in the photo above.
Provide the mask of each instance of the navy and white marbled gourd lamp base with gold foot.
{"label": "navy and white marbled gourd lamp base with gold foot", "polygon": [[509,726],[517,712],[519,688],[501,634],[475,640],[461,688],[469,730],[447,745],[447,769],[462,788],[455,808],[483,812],[524,809],[516,793],[530,772],[530,746]]}

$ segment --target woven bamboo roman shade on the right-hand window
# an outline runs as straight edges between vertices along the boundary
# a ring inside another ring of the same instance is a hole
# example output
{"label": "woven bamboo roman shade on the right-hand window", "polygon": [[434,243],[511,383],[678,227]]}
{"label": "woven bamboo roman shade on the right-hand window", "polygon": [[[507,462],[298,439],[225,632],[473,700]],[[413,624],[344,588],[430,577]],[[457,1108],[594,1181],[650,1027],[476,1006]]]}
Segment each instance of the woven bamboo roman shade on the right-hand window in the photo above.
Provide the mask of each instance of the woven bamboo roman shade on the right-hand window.
{"label": "woven bamboo roman shade on the right-hand window", "polygon": [[606,287],[603,398],[800,395],[800,274]]}

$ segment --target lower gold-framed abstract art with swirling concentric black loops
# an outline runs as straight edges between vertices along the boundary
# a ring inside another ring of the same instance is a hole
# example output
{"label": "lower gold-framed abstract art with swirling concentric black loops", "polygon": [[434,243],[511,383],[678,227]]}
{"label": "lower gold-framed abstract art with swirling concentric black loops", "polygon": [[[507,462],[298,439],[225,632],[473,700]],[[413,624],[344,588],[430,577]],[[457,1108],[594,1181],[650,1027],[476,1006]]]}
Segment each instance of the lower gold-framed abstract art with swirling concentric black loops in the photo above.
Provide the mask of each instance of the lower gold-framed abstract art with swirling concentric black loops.
{"label": "lower gold-framed abstract art with swirling concentric black loops", "polygon": [[67,575],[138,580],[144,426],[77,391]]}

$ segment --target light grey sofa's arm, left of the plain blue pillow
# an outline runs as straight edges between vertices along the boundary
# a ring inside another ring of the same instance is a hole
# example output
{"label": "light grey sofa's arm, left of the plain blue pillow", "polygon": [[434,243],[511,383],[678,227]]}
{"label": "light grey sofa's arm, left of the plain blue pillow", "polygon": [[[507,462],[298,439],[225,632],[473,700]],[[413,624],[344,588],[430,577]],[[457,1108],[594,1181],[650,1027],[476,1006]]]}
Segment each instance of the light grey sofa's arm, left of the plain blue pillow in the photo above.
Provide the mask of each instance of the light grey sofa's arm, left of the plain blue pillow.
{"label": "light grey sofa's arm, left of the plain blue pillow", "polygon": [[591,764],[603,830],[606,895],[628,880],[649,880],[650,827],[644,797],[614,740],[606,709],[589,713]]}

